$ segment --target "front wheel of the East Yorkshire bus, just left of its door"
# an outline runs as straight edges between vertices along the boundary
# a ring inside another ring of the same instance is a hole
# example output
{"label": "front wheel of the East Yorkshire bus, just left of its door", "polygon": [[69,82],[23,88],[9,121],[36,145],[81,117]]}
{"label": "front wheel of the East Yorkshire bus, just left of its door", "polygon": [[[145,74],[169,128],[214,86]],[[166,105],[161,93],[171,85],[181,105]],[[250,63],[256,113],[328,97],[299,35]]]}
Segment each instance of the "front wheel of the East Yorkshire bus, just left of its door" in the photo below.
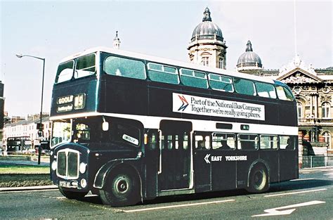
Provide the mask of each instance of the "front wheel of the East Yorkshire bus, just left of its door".
{"label": "front wheel of the East Yorkshire bus, just left of its door", "polygon": [[122,172],[110,175],[107,186],[100,190],[100,199],[113,207],[135,205],[140,200],[138,180],[133,174]]}

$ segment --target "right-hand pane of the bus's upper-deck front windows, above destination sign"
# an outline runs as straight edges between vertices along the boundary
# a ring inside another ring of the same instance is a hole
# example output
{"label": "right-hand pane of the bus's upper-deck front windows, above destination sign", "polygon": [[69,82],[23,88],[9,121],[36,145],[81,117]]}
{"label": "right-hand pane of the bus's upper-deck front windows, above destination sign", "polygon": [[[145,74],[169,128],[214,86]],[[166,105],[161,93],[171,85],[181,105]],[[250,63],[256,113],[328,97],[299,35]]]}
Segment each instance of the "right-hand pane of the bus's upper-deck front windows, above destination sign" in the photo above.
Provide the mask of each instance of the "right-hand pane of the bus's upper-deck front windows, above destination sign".
{"label": "right-hand pane of the bus's upper-deck front windows, above destination sign", "polygon": [[77,66],[75,67],[74,78],[86,77],[96,72],[96,56],[95,53],[77,58]]}

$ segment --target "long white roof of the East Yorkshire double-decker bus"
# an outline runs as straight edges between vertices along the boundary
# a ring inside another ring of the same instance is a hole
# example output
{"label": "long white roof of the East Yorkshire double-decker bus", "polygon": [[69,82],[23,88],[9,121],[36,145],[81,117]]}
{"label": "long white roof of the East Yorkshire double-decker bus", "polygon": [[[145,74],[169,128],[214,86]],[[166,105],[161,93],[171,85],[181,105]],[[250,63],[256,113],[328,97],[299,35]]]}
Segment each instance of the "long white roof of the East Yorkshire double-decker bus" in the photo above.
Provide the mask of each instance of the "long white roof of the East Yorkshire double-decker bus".
{"label": "long white roof of the East Yorkshire double-decker bus", "polygon": [[80,56],[85,56],[87,54],[95,53],[95,52],[113,53],[113,54],[118,54],[120,56],[128,56],[128,57],[133,57],[133,58],[142,59],[142,60],[149,60],[149,61],[157,62],[157,63],[164,63],[164,64],[176,65],[176,66],[179,66],[179,67],[186,67],[186,68],[195,69],[195,70],[214,72],[214,73],[218,73],[218,74],[221,74],[221,75],[227,75],[227,76],[230,76],[230,77],[240,77],[240,78],[246,78],[246,79],[254,79],[256,81],[268,82],[268,83],[271,83],[271,84],[275,83],[273,79],[267,79],[266,77],[259,77],[259,76],[255,76],[255,75],[245,74],[245,73],[242,73],[242,72],[223,70],[223,69],[216,68],[216,67],[207,67],[207,66],[204,66],[204,65],[186,63],[186,62],[182,62],[182,61],[178,61],[178,60],[159,58],[157,56],[149,56],[149,55],[145,55],[143,53],[123,51],[123,50],[120,50],[120,49],[107,48],[107,47],[103,47],[103,46],[88,48],[88,49],[86,49],[84,51],[81,51],[79,53],[74,53],[71,56],[67,56],[66,58],[63,58],[63,60],[61,60],[60,63],[64,63],[68,60],[72,60],[74,58],[78,58]]}

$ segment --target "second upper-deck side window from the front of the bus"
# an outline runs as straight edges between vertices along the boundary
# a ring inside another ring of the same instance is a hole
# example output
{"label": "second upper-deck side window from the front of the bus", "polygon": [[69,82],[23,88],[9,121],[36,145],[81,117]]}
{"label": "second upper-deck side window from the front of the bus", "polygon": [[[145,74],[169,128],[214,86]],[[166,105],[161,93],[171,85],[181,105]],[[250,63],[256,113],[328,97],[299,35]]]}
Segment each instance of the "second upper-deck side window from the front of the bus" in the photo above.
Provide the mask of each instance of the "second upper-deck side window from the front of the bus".
{"label": "second upper-deck side window from the front of the bus", "polygon": [[157,63],[148,63],[148,75],[152,81],[179,84],[178,70]]}

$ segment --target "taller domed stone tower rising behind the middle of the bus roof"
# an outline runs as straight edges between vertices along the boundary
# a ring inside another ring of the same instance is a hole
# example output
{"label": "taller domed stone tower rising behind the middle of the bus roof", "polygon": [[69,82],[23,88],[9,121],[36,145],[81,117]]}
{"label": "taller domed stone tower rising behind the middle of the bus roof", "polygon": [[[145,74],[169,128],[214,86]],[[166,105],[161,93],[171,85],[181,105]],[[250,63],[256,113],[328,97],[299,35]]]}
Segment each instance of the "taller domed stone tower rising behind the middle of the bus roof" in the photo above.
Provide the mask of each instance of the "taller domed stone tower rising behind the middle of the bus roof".
{"label": "taller domed stone tower rising behind the middle of the bus roof", "polygon": [[226,48],[220,27],[211,21],[209,8],[205,8],[204,18],[193,30],[188,45],[190,62],[226,69]]}

